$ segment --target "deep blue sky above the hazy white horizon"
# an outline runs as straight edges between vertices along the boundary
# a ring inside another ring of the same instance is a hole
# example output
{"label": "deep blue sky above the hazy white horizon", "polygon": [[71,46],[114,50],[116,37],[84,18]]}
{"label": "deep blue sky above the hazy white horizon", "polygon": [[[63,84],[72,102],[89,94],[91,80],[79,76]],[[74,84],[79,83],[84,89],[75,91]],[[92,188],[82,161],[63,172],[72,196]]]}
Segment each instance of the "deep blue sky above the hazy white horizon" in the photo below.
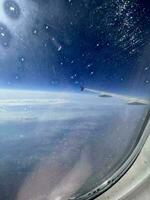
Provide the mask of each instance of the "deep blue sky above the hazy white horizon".
{"label": "deep blue sky above the hazy white horizon", "polygon": [[0,87],[150,93],[147,0],[1,0]]}

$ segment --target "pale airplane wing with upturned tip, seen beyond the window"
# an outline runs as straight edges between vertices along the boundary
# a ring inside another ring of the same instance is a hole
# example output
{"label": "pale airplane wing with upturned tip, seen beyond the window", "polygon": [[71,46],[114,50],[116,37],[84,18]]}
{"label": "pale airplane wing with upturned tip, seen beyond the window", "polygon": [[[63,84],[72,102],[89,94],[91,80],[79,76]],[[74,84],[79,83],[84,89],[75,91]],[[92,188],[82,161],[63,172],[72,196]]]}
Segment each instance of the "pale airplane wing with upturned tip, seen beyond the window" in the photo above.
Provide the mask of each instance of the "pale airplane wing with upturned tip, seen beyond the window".
{"label": "pale airplane wing with upturned tip, seen beyond the window", "polygon": [[149,105],[150,104],[150,101],[146,99],[139,99],[137,97],[124,96],[124,95],[111,93],[111,92],[105,92],[105,91],[97,91],[97,90],[85,88],[83,86],[81,86],[81,91],[91,92],[91,93],[97,94],[99,97],[102,97],[102,98],[115,97],[120,100],[124,100],[127,104],[130,104],[130,105]]}

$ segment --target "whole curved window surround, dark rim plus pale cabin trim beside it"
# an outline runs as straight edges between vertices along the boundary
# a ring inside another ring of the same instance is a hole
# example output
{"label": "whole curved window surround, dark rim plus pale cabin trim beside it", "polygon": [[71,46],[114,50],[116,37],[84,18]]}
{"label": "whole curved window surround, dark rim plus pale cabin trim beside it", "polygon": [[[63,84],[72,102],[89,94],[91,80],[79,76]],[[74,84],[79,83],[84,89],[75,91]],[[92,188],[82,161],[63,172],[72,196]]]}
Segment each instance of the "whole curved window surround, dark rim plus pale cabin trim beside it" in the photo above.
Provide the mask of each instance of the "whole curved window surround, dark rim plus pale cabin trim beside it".
{"label": "whole curved window surround, dark rim plus pale cabin trim beside it", "polygon": [[[150,178],[150,109],[146,114],[136,147],[118,170],[89,193],[69,200],[125,199]],[[149,198],[149,197],[148,197]],[[145,199],[146,200],[146,199]]]}

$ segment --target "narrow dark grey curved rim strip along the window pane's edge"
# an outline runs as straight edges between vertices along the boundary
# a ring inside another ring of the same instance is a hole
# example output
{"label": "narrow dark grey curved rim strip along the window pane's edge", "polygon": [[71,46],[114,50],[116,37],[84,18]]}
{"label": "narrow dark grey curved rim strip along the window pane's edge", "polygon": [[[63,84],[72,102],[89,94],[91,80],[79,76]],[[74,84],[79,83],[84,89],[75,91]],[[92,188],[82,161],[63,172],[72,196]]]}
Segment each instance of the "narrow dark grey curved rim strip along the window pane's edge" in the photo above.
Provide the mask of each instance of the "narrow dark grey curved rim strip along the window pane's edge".
{"label": "narrow dark grey curved rim strip along the window pane's edge", "polygon": [[150,135],[150,131],[147,130],[149,123],[150,123],[150,108],[148,108],[146,112],[145,120],[139,131],[139,137],[137,138],[132,153],[130,153],[126,157],[125,161],[123,161],[123,163],[120,164],[120,167],[118,167],[117,171],[100,186],[94,188],[85,195],[82,195],[77,198],[70,198],[69,200],[93,200],[102,195],[108,189],[110,189],[114,184],[116,184],[125,175],[125,173],[132,167],[138,155],[140,154],[148,136]]}

